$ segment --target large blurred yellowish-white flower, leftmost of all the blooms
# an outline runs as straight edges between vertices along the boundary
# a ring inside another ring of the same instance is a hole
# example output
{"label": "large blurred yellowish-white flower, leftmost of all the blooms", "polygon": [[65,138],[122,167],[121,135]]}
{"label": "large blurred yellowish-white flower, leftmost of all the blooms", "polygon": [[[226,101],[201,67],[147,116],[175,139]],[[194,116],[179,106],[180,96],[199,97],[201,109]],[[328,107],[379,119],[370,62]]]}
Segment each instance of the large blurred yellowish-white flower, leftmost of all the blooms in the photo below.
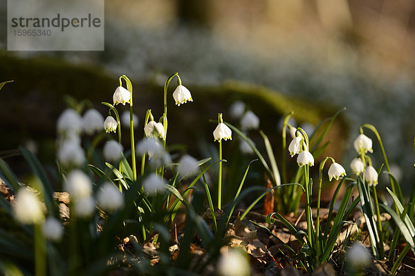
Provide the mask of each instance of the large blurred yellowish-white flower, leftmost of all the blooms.
{"label": "large blurred yellowish-white flower, leftmost of all the blooms", "polygon": [[39,224],[44,219],[42,204],[33,190],[20,188],[13,206],[15,218],[22,224]]}

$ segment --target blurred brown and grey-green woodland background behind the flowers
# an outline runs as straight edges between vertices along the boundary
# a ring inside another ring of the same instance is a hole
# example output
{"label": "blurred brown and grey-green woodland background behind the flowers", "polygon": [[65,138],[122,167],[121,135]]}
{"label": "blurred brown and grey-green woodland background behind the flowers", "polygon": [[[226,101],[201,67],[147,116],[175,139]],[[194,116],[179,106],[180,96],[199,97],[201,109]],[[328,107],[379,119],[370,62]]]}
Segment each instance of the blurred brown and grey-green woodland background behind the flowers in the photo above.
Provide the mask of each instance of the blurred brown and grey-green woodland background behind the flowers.
{"label": "blurred brown and grey-green woodland background behind the flowers", "polygon": [[[210,90],[234,80],[312,106],[318,119],[347,107],[342,124],[333,130],[342,142],[333,141],[331,155],[349,169],[360,124],[373,124],[396,178],[406,186],[413,183],[412,0],[105,1],[103,52],[8,52],[6,4],[0,0],[0,81],[15,83],[0,93],[1,152],[28,141],[39,143],[39,137],[53,141],[64,95],[91,99],[104,115],[100,101],[111,101],[123,74],[141,95],[135,97],[142,97],[135,101],[142,105],[137,111],[142,127],[147,108],[157,103],[156,112],[161,110],[160,87],[167,76],[179,72],[185,86],[204,95],[203,105],[215,101]],[[235,89],[219,89],[217,94],[225,101],[214,103],[203,121],[215,119],[217,112],[226,114],[228,105],[240,99]],[[197,106],[196,101],[194,96],[191,104]],[[275,136],[282,115],[295,109],[280,107],[274,117],[272,112],[262,114],[262,107],[261,101],[250,105],[261,117],[261,128],[266,126],[264,131]],[[315,126],[319,120],[303,111],[295,110],[297,123]],[[214,125],[206,126],[212,135]],[[374,139],[374,164],[379,168],[380,149],[374,135],[367,135]]]}

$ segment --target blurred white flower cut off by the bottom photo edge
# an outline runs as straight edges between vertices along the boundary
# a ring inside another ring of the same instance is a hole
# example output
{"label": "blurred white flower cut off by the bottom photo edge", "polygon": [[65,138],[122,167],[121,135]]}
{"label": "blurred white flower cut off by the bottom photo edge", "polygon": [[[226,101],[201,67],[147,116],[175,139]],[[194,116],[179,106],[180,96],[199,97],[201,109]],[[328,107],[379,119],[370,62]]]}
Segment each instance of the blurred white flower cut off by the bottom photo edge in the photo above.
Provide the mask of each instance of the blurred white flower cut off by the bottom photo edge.
{"label": "blurred white flower cut off by the bottom photo edge", "polygon": [[248,276],[250,264],[241,250],[230,249],[219,258],[217,271],[221,276]]}

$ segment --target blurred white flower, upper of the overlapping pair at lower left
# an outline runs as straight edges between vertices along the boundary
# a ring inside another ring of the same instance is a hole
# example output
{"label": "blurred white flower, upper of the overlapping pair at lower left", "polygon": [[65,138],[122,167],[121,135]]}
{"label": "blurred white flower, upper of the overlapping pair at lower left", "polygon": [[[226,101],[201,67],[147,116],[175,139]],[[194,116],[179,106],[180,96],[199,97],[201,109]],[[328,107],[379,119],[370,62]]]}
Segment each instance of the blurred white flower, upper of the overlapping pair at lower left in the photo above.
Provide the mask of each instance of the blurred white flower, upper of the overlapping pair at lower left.
{"label": "blurred white flower, upper of the overlapping pair at lower left", "polygon": [[82,170],[73,170],[66,177],[64,188],[75,200],[89,197],[92,193],[91,179]]}

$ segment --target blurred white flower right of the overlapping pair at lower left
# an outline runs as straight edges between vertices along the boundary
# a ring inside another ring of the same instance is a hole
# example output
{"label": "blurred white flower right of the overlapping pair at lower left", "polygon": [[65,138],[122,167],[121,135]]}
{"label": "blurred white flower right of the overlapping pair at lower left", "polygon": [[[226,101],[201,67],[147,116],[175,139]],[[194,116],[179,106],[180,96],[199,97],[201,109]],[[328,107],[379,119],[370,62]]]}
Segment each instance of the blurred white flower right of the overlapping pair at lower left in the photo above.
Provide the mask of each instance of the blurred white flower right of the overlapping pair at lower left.
{"label": "blurred white flower right of the overlapping pair at lower left", "polygon": [[124,206],[124,197],[116,186],[105,182],[97,195],[98,206],[104,210],[117,210]]}

